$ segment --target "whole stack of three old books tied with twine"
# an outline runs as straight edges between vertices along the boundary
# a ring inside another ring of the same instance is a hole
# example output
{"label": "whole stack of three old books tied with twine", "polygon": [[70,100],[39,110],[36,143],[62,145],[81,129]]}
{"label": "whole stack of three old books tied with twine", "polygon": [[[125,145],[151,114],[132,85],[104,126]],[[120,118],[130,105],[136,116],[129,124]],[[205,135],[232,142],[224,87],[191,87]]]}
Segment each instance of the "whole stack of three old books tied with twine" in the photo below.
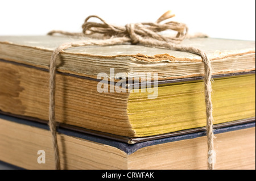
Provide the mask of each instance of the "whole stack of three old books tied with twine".
{"label": "whole stack of three old books tied with twine", "polygon": [[[49,60],[77,40],[0,37],[0,161],[54,169]],[[255,42],[181,45],[212,61],[216,169],[255,169]],[[64,50],[55,96],[61,169],[207,169],[203,76],[201,57],[191,53],[139,45]]]}

